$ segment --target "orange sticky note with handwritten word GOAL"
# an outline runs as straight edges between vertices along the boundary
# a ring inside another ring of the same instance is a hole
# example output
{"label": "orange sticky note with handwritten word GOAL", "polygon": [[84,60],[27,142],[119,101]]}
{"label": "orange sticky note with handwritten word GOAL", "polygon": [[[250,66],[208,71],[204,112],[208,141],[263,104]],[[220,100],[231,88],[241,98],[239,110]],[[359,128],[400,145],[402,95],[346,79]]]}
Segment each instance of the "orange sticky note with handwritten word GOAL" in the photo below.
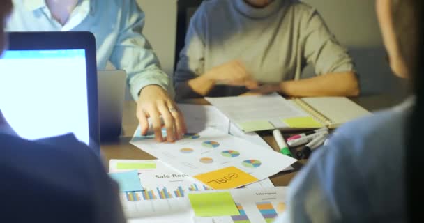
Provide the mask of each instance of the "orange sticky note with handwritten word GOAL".
{"label": "orange sticky note with handwritten word GOAL", "polygon": [[226,167],[206,174],[199,174],[195,178],[216,190],[232,189],[257,181],[257,178],[236,167]]}

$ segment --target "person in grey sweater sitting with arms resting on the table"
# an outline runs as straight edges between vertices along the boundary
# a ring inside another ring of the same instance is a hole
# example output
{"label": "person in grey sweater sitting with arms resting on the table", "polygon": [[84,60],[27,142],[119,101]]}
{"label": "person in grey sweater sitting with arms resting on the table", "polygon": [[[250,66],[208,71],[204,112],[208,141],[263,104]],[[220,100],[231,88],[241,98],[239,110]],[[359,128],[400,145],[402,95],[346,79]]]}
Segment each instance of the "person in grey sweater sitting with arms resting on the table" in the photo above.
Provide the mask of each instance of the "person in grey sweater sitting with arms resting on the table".
{"label": "person in grey sweater sitting with arms resting on the table", "polygon": [[[316,77],[301,79],[310,63]],[[174,75],[176,98],[277,91],[359,94],[354,64],[317,10],[298,0],[208,0],[193,15]]]}

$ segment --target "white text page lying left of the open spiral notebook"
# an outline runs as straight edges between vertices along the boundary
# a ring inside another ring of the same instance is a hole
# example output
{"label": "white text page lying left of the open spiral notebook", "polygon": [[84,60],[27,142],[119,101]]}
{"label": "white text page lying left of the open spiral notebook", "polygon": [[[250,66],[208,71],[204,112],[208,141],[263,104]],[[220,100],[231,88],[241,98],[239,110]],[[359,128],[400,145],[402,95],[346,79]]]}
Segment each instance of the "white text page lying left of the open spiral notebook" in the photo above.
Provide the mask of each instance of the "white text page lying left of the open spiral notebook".
{"label": "white text page lying left of the open spiral notebook", "polygon": [[278,93],[270,95],[206,98],[244,132],[289,128],[283,120],[310,117]]}

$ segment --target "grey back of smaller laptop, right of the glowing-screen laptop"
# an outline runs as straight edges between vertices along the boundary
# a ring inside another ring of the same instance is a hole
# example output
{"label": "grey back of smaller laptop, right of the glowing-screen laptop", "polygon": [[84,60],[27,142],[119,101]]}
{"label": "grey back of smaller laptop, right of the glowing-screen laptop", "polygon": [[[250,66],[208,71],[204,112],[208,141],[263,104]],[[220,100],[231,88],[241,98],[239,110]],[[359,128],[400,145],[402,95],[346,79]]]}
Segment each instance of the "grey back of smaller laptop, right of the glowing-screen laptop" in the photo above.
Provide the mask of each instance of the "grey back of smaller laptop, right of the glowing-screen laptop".
{"label": "grey back of smaller laptop, right of the glowing-screen laptop", "polygon": [[98,70],[100,139],[102,141],[121,135],[126,76],[124,70]]}

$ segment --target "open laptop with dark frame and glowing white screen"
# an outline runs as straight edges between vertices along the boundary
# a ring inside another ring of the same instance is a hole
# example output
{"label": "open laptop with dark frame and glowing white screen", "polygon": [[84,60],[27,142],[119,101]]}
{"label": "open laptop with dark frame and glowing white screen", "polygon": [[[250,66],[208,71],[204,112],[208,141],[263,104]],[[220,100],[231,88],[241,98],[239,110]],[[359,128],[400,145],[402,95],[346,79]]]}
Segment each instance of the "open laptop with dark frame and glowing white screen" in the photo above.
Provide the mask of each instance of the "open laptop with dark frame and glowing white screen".
{"label": "open laptop with dark frame and glowing white screen", "polygon": [[73,133],[100,153],[96,42],[89,32],[8,33],[0,109],[29,140]]}

